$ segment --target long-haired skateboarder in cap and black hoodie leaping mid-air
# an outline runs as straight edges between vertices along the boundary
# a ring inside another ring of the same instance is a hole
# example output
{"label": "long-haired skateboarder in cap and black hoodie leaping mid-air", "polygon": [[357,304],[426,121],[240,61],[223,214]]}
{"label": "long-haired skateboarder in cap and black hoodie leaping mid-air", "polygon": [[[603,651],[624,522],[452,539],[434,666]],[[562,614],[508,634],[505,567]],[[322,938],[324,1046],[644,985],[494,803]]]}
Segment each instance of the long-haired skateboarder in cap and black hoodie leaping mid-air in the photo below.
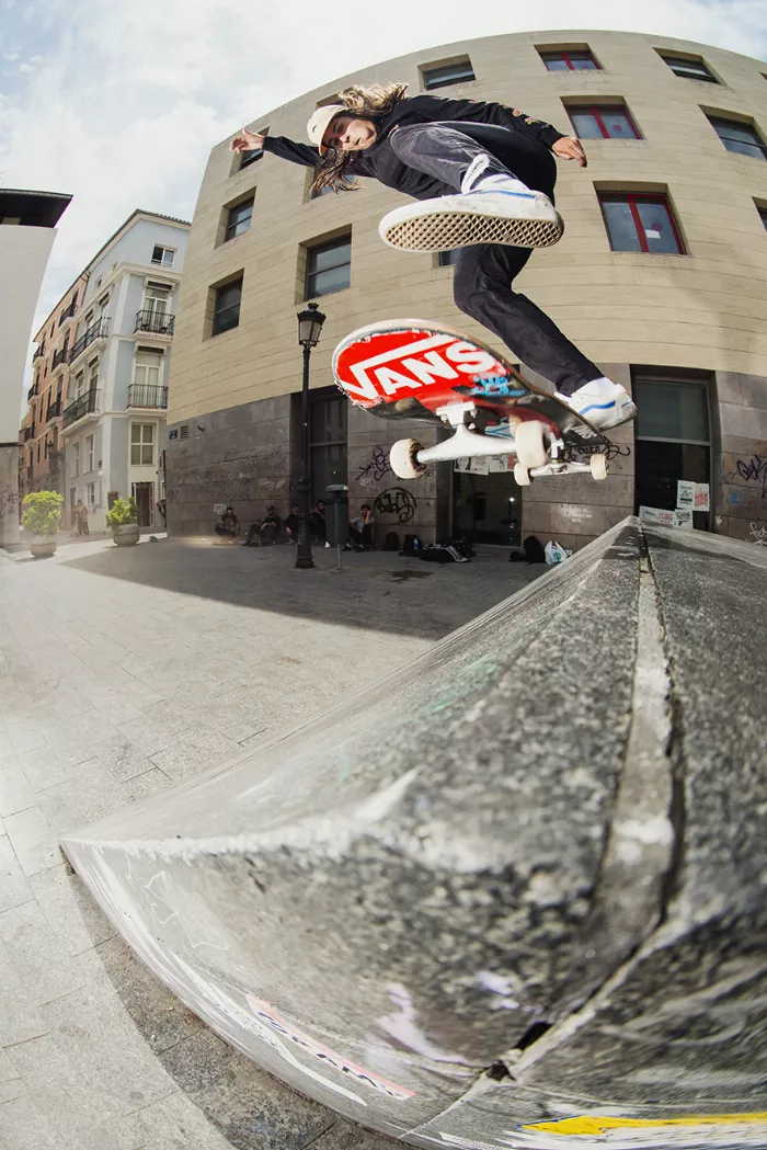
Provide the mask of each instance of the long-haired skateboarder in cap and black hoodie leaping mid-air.
{"label": "long-haired skateboarder in cap and black hoodie leaping mid-air", "polygon": [[553,156],[585,167],[580,140],[503,103],[408,98],[406,89],[346,89],[342,102],[317,108],[309,120],[315,146],[244,128],[230,147],[263,148],[315,168],[316,191],[352,190],[354,177],[369,176],[414,197],[416,204],[382,220],[385,243],[407,251],[460,248],[453,291],[462,312],[499,336],[597,427],[634,419],[636,407],[626,389],[605,378],[540,308],[512,288],[532,247],[561,236]]}

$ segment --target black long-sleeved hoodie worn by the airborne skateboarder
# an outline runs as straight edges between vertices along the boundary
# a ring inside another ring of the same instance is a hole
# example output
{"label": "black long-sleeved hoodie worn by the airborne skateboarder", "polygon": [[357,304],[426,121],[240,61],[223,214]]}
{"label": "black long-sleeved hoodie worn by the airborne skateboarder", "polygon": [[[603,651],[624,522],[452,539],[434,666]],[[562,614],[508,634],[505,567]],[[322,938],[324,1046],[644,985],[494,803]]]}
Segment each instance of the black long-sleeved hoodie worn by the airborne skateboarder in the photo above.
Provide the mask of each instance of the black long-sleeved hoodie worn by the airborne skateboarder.
{"label": "black long-sleeved hoodie worn by the airborne skateboarder", "polygon": [[[415,168],[409,168],[397,156],[389,143],[389,137],[394,128],[401,124],[430,124],[453,122],[458,124],[493,124],[496,128],[505,128],[509,131],[508,148],[513,152],[514,135],[537,140],[551,148],[558,139],[562,138],[562,132],[558,132],[551,124],[543,120],[534,120],[527,116],[519,108],[509,108],[505,103],[485,103],[481,100],[445,100],[436,95],[415,95],[412,99],[405,98],[394,105],[392,110],[385,116],[370,116],[378,129],[375,144],[363,152],[354,153],[353,162],[347,171],[352,176],[369,176],[379,181],[388,187],[394,187],[398,192],[405,192],[417,200],[428,199],[432,195],[443,195],[453,189],[446,187],[432,176],[428,176]],[[497,133],[499,138],[503,137]],[[489,151],[499,159],[501,148],[488,144]],[[316,168],[321,156],[316,147],[308,144],[297,144],[284,136],[267,136],[263,140],[264,152],[273,152],[283,160],[292,160],[293,163],[302,163],[307,168]]]}

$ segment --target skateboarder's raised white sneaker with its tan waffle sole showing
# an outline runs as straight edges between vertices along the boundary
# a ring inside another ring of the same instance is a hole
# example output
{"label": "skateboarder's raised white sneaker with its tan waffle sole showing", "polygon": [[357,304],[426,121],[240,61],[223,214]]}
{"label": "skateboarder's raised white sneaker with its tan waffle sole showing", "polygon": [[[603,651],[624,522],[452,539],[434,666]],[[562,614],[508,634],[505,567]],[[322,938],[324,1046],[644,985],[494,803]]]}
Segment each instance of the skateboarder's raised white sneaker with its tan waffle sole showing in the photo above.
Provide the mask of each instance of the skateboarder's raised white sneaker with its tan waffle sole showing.
{"label": "skateboarder's raised white sneaker with its tan waffle sole showing", "polygon": [[480,179],[459,195],[394,208],[378,225],[383,241],[405,252],[448,252],[469,244],[550,247],[562,231],[547,195],[504,175]]}

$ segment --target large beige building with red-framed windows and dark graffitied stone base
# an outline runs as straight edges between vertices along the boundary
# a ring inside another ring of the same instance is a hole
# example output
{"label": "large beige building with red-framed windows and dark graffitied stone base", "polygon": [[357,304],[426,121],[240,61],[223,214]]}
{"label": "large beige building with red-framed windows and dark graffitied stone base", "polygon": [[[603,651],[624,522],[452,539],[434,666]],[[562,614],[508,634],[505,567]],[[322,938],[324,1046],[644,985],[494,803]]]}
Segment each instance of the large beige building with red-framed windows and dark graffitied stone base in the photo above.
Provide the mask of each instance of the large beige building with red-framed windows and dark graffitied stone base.
{"label": "large beige building with red-framed windows and dark graffitied stone base", "polygon": [[[283,511],[300,474],[296,312],[327,313],[312,359],[313,497],[345,482],[378,531],[429,540],[530,532],[580,547],[641,507],[676,516],[696,484],[696,527],[767,535],[767,67],[707,45],[619,32],[499,36],[362,69],[264,114],[255,131],[306,138],[306,121],[350,83],[407,80],[411,93],[494,100],[578,135],[585,169],[559,161],[562,240],[536,252],[515,289],[632,390],[611,474],[535,481],[440,465],[402,482],[391,424],[332,386],[336,343],[376,319],[421,316],[494,337],[452,300],[450,258],[398,252],[378,221],[402,197],[368,181],[313,198],[310,171],[263,153],[210,153],[179,297],[168,414],[169,526],[209,530]],[[524,370],[524,365],[522,370]],[[535,377],[532,377],[535,378]],[[537,383],[543,381],[537,379]],[[689,516],[687,516],[689,521]]]}

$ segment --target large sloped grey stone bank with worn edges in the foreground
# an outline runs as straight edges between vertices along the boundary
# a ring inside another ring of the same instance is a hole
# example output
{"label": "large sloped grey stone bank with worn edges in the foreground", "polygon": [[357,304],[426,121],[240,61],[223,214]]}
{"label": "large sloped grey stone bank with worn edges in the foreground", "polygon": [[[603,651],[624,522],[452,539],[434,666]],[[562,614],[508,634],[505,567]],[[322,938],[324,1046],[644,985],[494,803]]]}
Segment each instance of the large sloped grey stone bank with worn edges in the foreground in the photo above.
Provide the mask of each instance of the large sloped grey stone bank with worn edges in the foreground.
{"label": "large sloped grey stone bank with worn edges in the foreground", "polygon": [[64,850],[205,1021],[363,1126],[764,1145],[766,592],[764,550],[626,521]]}

